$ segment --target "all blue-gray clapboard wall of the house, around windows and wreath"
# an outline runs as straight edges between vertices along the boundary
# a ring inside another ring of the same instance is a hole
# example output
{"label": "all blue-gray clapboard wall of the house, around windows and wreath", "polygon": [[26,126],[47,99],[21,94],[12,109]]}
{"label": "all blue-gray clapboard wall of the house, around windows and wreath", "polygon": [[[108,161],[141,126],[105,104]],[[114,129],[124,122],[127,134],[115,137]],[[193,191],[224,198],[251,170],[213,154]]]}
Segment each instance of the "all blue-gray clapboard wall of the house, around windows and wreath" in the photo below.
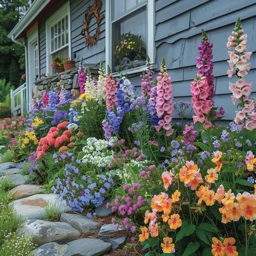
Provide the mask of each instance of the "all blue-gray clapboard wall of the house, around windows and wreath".
{"label": "all blue-gray clapboard wall of the house, around windows and wreath", "polygon": [[[59,1],[62,2],[63,1]],[[101,14],[105,16],[106,0],[102,0]],[[105,17],[100,23],[100,38],[89,48],[85,38],[80,35],[87,6],[93,0],[70,0],[71,14],[71,49],[76,53],[76,62],[84,58],[85,64],[98,64],[105,61]],[[57,10],[57,8],[56,8]],[[55,10],[52,10],[52,13]],[[49,14],[50,16],[51,14]],[[174,100],[176,102],[191,101],[190,82],[194,79],[196,68],[197,46],[201,41],[201,29],[206,30],[208,38],[213,43],[213,62],[215,76],[214,97],[215,106],[223,106],[226,120],[234,117],[235,106],[231,102],[231,93],[226,70],[228,64],[227,38],[231,35],[234,22],[241,18],[242,26],[248,33],[248,51],[253,51],[251,71],[246,76],[248,82],[253,81],[253,96],[256,96],[256,3],[255,0],[223,1],[223,0],[156,0],[155,1],[155,43],[156,43],[156,74],[160,68],[161,58],[166,60],[169,75],[173,80]],[[48,18],[48,17],[47,17]],[[45,20],[47,19],[45,18]],[[90,32],[96,27],[92,19]],[[41,75],[46,72],[45,21],[39,23]],[[139,93],[139,74],[130,75],[132,83],[137,86]]]}

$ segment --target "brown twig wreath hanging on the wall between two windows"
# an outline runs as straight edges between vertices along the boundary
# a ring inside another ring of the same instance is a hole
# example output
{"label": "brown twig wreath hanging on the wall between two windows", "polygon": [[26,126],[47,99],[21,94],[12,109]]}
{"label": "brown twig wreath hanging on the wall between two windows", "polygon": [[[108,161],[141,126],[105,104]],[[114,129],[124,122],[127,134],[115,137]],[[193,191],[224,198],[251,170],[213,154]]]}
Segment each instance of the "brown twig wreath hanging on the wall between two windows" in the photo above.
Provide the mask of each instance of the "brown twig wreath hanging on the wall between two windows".
{"label": "brown twig wreath hanging on the wall between two windows", "polygon": [[[85,42],[86,45],[92,46],[96,43],[96,40],[99,39],[99,23],[104,18],[104,15],[99,15],[100,10],[102,9],[102,0],[94,0],[94,3],[92,6],[88,6],[86,13],[85,13],[85,19],[83,21],[84,29],[81,32],[82,36],[85,36]],[[96,18],[96,29],[93,36],[89,35],[89,25],[91,18],[95,16]]]}

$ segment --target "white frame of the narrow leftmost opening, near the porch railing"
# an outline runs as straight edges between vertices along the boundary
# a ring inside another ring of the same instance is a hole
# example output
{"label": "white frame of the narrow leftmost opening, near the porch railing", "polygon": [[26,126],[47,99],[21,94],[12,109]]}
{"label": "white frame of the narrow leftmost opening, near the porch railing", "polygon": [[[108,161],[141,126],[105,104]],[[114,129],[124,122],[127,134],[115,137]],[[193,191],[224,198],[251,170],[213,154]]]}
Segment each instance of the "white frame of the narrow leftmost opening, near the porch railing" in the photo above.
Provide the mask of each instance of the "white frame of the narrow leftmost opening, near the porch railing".
{"label": "white frame of the narrow leftmost opening, near the porch railing", "polygon": [[[38,40],[38,24],[32,26],[32,28],[26,33],[28,38],[28,79],[26,79],[28,89],[28,102],[32,101],[33,90],[35,89],[35,43],[37,43],[37,55],[38,55],[38,76],[40,76],[40,64],[39,64],[39,40]],[[39,79],[39,77],[38,77]]]}

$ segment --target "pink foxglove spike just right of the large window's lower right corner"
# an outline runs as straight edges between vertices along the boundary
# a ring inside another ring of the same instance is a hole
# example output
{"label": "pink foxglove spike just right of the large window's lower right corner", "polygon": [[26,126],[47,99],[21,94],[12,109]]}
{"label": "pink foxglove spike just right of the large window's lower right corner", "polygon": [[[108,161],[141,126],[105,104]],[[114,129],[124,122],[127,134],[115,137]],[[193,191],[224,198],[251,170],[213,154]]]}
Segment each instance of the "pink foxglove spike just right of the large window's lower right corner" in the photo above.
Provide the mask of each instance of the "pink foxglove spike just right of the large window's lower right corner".
{"label": "pink foxglove spike just right of the large window's lower right corner", "polygon": [[161,128],[165,130],[165,135],[170,137],[174,131],[172,129],[172,116],[174,110],[173,100],[173,87],[172,80],[166,72],[165,60],[161,62],[161,69],[157,77],[157,98],[156,98],[156,112],[157,117],[160,119],[156,130],[159,132]]}

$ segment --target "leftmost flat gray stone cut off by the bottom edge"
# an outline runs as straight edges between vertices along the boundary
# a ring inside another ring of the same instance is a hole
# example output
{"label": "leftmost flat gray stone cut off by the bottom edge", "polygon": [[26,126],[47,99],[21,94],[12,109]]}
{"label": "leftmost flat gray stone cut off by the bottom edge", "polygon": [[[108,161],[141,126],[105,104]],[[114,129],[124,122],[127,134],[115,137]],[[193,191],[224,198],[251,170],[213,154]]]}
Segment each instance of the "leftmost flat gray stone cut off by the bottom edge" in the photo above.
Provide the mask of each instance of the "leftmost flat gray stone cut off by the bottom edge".
{"label": "leftmost flat gray stone cut off by the bottom edge", "polygon": [[33,250],[33,256],[63,256],[68,245],[59,245],[56,242],[48,242]]}

